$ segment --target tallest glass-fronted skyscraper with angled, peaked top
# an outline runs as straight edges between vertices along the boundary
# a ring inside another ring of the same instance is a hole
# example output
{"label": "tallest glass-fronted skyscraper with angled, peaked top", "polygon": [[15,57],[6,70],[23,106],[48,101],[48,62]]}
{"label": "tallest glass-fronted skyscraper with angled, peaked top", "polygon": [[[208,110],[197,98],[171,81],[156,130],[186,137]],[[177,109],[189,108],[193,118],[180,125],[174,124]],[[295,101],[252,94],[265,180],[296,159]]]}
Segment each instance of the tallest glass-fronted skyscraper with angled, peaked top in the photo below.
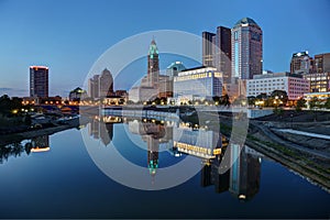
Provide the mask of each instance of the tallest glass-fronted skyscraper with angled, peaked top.
{"label": "tallest glass-fronted skyscraper with angled, peaked top", "polygon": [[238,21],[231,30],[232,77],[252,79],[263,69],[263,32],[250,18]]}

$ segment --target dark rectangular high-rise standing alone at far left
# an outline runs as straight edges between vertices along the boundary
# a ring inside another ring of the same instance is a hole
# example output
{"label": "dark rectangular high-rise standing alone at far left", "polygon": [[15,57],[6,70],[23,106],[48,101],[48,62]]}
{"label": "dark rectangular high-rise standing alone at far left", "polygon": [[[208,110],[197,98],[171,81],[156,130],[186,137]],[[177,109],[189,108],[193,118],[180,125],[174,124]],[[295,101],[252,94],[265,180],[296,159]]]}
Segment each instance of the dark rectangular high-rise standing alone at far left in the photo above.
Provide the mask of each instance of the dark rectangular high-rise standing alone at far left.
{"label": "dark rectangular high-rise standing alone at far left", "polygon": [[48,97],[48,67],[30,66],[30,97]]}

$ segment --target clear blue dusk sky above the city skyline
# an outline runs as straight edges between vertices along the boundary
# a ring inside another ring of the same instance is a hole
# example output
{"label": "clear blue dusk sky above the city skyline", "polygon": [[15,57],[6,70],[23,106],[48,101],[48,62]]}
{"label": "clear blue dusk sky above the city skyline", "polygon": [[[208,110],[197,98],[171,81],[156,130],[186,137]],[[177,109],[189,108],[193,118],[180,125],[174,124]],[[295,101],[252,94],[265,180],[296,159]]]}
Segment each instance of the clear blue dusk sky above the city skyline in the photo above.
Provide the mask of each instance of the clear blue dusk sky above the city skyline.
{"label": "clear blue dusk sky above the city skyline", "polygon": [[[219,25],[232,28],[244,16],[263,30],[264,69],[286,72],[293,53],[330,52],[329,11],[329,0],[0,0],[0,96],[29,96],[29,66],[46,65],[50,95],[65,97],[82,86],[108,48],[127,37],[157,30],[201,35]],[[161,68],[177,59],[164,57]],[[198,62],[185,59],[187,67]],[[143,76],[146,59],[127,70],[132,72],[128,78]],[[128,86],[119,81],[114,88]]]}

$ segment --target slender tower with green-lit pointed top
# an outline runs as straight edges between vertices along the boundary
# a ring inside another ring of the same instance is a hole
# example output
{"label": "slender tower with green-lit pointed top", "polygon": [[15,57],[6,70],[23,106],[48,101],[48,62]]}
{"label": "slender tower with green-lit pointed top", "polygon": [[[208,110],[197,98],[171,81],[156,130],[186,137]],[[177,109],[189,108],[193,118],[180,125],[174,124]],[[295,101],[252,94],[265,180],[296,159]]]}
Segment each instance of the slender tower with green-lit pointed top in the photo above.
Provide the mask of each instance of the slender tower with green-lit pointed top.
{"label": "slender tower with green-lit pointed top", "polygon": [[151,42],[147,53],[147,81],[150,87],[158,88],[160,57],[155,40]]}

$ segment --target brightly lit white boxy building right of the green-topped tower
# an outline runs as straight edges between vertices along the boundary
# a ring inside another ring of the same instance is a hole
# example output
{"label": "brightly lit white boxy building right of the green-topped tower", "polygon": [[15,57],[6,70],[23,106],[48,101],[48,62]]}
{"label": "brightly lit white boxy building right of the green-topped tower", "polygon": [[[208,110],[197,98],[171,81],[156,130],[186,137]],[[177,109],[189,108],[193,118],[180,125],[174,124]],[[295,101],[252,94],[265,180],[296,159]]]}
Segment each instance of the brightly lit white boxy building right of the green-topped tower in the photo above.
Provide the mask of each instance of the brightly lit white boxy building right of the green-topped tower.
{"label": "brightly lit white boxy building right of the green-topped tower", "polygon": [[174,77],[174,98],[178,101],[211,99],[222,96],[222,74],[215,67],[183,70]]}

